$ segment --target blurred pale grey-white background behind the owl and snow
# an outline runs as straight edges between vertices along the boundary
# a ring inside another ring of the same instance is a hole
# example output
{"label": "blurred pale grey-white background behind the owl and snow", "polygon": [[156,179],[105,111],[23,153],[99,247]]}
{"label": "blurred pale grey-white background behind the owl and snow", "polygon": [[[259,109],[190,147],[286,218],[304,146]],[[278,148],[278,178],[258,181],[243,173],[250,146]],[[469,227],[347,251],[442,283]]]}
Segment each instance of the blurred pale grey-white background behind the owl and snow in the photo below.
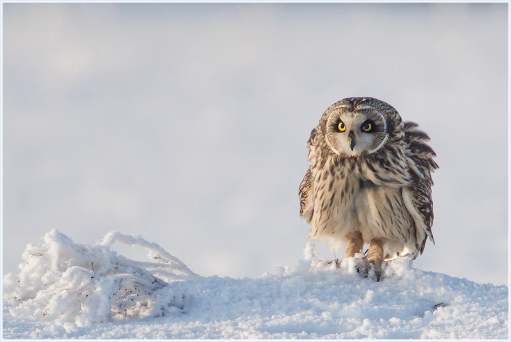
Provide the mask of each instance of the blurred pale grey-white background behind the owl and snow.
{"label": "blurred pale grey-white background behind the owl and snow", "polygon": [[203,276],[292,265],[304,143],[373,96],[438,155],[414,266],[508,284],[507,6],[4,3],[3,274],[53,228]]}

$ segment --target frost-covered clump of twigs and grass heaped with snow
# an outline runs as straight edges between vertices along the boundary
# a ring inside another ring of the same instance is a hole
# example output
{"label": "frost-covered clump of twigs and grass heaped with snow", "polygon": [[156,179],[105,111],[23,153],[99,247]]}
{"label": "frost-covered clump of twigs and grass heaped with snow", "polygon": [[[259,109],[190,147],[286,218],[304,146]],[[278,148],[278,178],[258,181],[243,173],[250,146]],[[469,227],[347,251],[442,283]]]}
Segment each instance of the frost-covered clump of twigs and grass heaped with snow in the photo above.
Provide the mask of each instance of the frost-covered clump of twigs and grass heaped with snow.
{"label": "frost-covered clump of twigs and grass heaped with snow", "polygon": [[[55,321],[71,329],[90,323],[161,316],[172,307],[168,284],[197,277],[186,265],[140,236],[108,233],[88,246],[57,230],[29,244],[17,277],[4,277],[4,301],[17,304],[14,317]],[[110,250],[114,242],[148,250],[151,262],[130,260]]]}

